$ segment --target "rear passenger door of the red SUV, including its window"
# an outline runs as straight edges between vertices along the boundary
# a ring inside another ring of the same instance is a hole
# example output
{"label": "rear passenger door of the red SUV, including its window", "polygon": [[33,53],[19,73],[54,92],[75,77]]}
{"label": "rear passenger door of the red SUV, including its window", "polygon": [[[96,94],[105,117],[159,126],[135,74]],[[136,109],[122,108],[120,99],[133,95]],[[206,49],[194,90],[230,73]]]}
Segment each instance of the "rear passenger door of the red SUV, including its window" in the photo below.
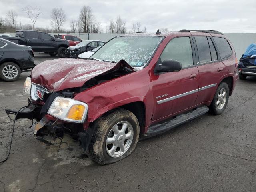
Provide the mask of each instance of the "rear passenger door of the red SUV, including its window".
{"label": "rear passenger door of the red SUV, including its window", "polygon": [[199,70],[199,91],[195,104],[211,101],[226,67],[222,63],[212,36],[194,36]]}

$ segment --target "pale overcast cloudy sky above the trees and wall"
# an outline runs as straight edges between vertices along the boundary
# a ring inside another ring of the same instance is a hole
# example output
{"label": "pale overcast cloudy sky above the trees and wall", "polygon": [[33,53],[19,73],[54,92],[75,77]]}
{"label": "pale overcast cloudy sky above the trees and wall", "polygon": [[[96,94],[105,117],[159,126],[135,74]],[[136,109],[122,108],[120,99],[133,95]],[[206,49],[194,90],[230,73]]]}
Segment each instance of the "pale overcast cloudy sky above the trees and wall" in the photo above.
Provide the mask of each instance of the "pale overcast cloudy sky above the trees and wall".
{"label": "pale overcast cloudy sky above the trees and wall", "polygon": [[[50,26],[50,11],[61,7],[68,21],[62,28],[69,29],[69,21],[77,19],[84,5],[92,8],[97,22],[104,30],[109,20],[120,15],[126,20],[127,31],[133,22],[140,22],[148,31],[168,28],[214,29],[224,33],[256,32],[256,0],[0,0],[0,16],[9,10],[18,13],[17,22],[31,24],[22,8],[39,6],[43,12],[37,27]],[[104,31],[105,32],[105,31]]]}

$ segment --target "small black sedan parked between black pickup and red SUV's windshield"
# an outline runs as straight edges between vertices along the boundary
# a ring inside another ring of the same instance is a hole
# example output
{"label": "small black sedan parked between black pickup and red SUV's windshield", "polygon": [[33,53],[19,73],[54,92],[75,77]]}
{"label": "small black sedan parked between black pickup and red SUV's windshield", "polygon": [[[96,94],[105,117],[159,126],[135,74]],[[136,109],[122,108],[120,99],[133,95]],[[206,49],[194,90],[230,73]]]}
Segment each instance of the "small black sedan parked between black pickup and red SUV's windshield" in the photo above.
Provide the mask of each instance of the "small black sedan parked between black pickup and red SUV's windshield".
{"label": "small black sedan parked between black pickup and red SUV's windshield", "polygon": [[95,49],[98,46],[104,45],[104,41],[95,41],[95,40],[86,40],[82,41],[75,46],[70,46],[66,50],[66,57],[68,58],[77,58],[77,56],[86,51]]}

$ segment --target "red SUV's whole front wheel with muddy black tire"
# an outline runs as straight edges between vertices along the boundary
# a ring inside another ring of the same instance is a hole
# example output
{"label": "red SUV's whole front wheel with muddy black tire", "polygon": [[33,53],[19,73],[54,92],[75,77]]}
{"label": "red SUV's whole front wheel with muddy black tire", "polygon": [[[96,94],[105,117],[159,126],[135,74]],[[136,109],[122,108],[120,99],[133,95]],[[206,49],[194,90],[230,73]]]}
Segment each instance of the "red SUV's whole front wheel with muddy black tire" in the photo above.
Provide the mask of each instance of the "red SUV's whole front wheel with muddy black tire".
{"label": "red SUV's whole front wheel with muddy black tire", "polygon": [[[127,124],[126,129],[122,132],[121,128],[125,127],[125,124]],[[118,130],[115,129],[116,126]],[[93,128],[89,154],[94,162],[101,165],[120,161],[130,155],[136,147],[140,134],[138,119],[132,112],[125,109],[116,110],[100,118]],[[114,130],[118,134],[115,134]],[[126,139],[126,136],[130,137]],[[109,144],[106,144],[107,138],[110,141]]]}

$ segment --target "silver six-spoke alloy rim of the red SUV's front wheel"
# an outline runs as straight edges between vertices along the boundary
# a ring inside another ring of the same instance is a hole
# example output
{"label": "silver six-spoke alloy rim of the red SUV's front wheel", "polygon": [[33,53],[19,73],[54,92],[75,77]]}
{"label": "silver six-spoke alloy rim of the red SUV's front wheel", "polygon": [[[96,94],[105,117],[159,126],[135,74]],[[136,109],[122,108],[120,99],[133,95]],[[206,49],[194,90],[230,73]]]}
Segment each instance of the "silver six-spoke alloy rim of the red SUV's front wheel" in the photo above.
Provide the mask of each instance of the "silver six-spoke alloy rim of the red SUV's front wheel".
{"label": "silver six-spoke alloy rim of the red SUV's front wheel", "polygon": [[109,156],[117,158],[127,152],[133,139],[132,125],[127,121],[115,124],[106,139],[106,151]]}

